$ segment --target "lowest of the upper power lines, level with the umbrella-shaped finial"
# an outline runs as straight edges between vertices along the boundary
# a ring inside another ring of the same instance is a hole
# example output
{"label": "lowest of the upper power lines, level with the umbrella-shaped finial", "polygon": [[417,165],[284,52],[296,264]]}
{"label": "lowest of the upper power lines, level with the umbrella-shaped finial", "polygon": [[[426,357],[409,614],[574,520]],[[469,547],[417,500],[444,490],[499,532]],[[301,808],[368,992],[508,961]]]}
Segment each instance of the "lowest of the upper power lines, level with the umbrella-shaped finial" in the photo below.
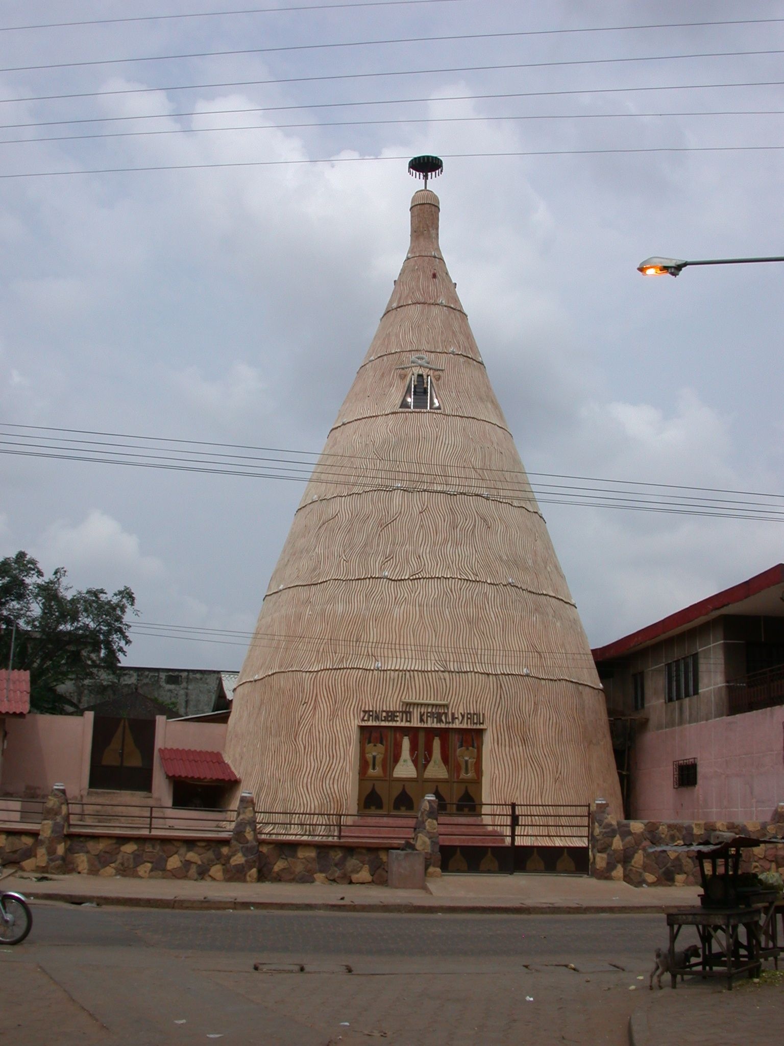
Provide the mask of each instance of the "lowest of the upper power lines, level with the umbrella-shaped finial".
{"label": "lowest of the upper power lines, level with the umbrella-shaped finial", "polygon": [[[508,159],[534,156],[619,156],[644,153],[758,153],[779,152],[784,145],[658,145],[645,149],[547,149],[510,153],[442,153],[445,160]],[[216,170],[227,167],[280,167],[316,163],[370,163],[383,160],[406,160],[406,156],[338,156],[306,160],[233,160],[215,163],[161,163],[142,167],[93,167],[77,170],[23,170],[19,174],[0,174],[0,179],[59,178],[73,175],[120,175],[152,170]]]}

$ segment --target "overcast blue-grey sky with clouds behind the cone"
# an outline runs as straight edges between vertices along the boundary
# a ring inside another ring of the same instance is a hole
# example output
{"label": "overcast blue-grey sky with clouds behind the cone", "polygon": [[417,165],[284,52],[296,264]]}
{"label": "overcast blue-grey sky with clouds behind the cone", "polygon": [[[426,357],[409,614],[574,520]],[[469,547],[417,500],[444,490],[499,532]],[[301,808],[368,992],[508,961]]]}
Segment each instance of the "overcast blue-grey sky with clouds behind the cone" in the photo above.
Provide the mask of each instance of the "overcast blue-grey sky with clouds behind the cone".
{"label": "overcast blue-grey sky with clouds behind the cone", "polygon": [[[0,0],[0,26],[232,6],[251,4]],[[432,152],[444,257],[528,471],[784,508],[784,265],[636,271],[784,253],[784,87],[693,87],[784,81],[783,2],[280,6],[0,32],[0,137],[23,139],[0,144],[0,174],[29,176],[0,179],[5,426],[318,451],[406,254],[407,159]],[[782,21],[477,39],[740,18]],[[275,50],[447,33],[472,39]],[[51,68],[249,48],[272,50]],[[779,52],[709,56],[728,51]],[[494,68],[512,65],[528,67]],[[65,94],[86,96],[41,99]],[[345,126],[371,120],[399,122]],[[129,135],[206,128],[233,130]],[[689,151],[592,152],[659,147]],[[513,153],[568,155],[449,158]],[[374,157],[401,159],[277,162]],[[195,169],[82,173],[156,166]],[[32,177],[49,172],[73,174]],[[240,633],[302,493],[6,454],[0,483],[0,554],[130,585],[142,622]],[[593,645],[784,559],[778,522],[543,510]],[[241,636],[143,631],[132,664],[229,669],[245,653]]]}

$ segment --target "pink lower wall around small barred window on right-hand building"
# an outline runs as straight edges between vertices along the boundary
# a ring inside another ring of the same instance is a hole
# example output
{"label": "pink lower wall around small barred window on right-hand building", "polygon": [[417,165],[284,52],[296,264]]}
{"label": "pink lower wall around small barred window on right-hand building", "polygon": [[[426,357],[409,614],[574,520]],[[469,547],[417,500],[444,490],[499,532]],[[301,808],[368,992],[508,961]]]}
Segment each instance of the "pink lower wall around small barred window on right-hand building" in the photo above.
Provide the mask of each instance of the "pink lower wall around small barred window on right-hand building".
{"label": "pink lower wall around small barred window on right-hand building", "polygon": [[[631,761],[640,820],[767,820],[784,801],[784,707],[642,731]],[[675,759],[697,760],[696,788],[672,787]]]}

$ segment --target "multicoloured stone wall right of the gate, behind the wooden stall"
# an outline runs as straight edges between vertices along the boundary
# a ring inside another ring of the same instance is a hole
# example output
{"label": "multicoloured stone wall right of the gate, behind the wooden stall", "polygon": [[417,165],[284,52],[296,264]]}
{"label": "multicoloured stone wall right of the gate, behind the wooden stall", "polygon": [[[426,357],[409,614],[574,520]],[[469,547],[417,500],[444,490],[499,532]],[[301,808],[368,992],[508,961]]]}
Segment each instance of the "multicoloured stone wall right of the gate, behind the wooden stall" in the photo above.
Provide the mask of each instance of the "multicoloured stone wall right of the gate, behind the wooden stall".
{"label": "multicoloured stone wall right of the gate, behind the wooden stall", "polygon": [[699,885],[696,854],[678,850],[650,852],[653,846],[692,845],[712,842],[715,833],[732,833],[759,839],[760,845],[744,851],[742,871],[784,871],[784,845],[766,843],[784,837],[784,803],[769,821],[624,821],[608,814],[597,800],[593,814],[591,873],[630,886]]}

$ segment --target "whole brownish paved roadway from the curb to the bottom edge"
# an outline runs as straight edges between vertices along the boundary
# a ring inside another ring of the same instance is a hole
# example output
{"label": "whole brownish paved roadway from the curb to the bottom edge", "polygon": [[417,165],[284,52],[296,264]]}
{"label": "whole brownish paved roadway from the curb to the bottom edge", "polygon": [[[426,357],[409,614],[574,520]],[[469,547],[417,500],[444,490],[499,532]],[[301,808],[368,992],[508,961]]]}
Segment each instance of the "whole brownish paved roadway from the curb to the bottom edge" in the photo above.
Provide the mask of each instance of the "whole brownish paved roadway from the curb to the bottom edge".
{"label": "whole brownish paved roadway from the curb to the bottom edge", "polygon": [[33,915],[0,948],[3,1046],[625,1046],[666,940],[661,915]]}

